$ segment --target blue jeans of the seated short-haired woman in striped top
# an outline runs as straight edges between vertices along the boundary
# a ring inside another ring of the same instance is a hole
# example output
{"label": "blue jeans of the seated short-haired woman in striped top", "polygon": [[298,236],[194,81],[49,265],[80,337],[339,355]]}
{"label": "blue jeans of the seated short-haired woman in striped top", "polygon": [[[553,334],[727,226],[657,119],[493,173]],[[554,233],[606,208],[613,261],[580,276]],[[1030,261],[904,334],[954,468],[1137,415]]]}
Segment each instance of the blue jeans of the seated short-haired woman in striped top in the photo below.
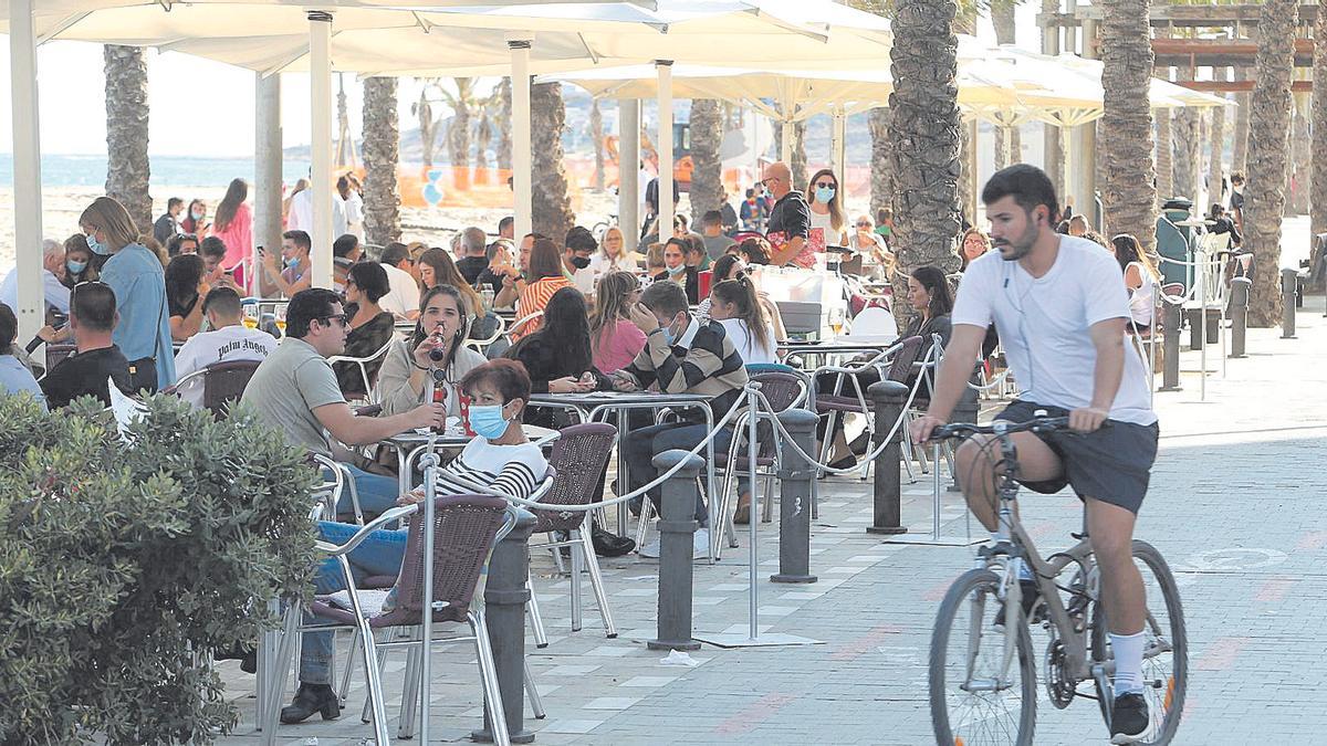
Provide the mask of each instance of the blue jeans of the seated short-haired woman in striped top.
{"label": "blue jeans of the seated short-haired woman in striped top", "polygon": [[[369,474],[369,477],[376,475]],[[362,500],[362,492],[360,498]],[[349,542],[358,530],[358,526],[346,523],[318,522],[318,534],[322,539],[333,544]],[[354,576],[356,585],[374,575],[398,575],[401,572],[401,563],[406,556],[406,538],[409,532],[409,528],[380,528],[369,534],[358,547],[350,550],[346,559],[350,563],[350,575]],[[345,589],[345,573],[341,571],[341,563],[334,558],[322,560],[317,575],[313,577],[313,587],[314,592],[320,595]],[[317,619],[312,615],[304,616],[305,624],[316,621]],[[332,640],[333,636],[330,632],[307,632],[304,634],[300,648],[300,681],[303,684],[332,684],[329,666],[332,661]]]}

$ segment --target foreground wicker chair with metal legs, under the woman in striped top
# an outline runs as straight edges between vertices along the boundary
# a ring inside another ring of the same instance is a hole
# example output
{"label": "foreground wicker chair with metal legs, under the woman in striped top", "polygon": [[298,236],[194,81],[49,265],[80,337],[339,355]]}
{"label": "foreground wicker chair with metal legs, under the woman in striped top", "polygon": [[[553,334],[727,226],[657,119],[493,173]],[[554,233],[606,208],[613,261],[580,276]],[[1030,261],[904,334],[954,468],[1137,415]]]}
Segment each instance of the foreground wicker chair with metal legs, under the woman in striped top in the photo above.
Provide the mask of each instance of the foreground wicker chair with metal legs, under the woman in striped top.
{"label": "foreground wicker chair with metal legs, under the woman in striped top", "polygon": [[[488,719],[494,725],[498,742],[507,742],[506,718],[502,714],[502,693],[498,688],[492,649],[483,620],[483,608],[482,605],[471,608],[471,601],[474,600],[479,577],[488,563],[490,551],[515,523],[514,511],[508,508],[507,500],[502,498],[449,495],[435,498],[434,515],[433,621],[435,624],[466,623],[470,625],[470,634],[435,638],[433,642],[455,642],[462,640],[472,640],[475,642],[486,706],[490,713],[496,713],[496,717],[490,717]],[[378,596],[381,601],[381,597],[387,591],[357,589],[346,555],[360,546],[373,531],[405,516],[410,519],[410,528],[406,540],[405,561],[402,563],[401,576],[395,585],[395,608],[370,617],[365,612],[365,605],[368,605],[365,601],[373,596]],[[326,556],[336,558],[340,563],[341,571],[346,577],[353,608],[338,608],[332,605],[329,597],[318,597],[309,608],[309,612],[318,620],[322,620],[322,624],[313,625],[300,624],[300,616],[304,613],[304,609],[299,604],[292,604],[287,609],[288,634],[281,641],[280,664],[277,673],[272,677],[275,685],[267,693],[269,697],[265,710],[269,718],[269,722],[265,723],[267,727],[276,727],[276,715],[280,709],[277,705],[284,698],[285,672],[291,668],[295,650],[293,637],[303,632],[352,629],[365,652],[365,678],[373,710],[374,735],[378,743],[385,745],[389,742],[381,666],[378,662],[380,652],[397,646],[410,648],[411,654],[406,666],[406,685],[402,694],[399,735],[409,738],[413,734],[414,706],[418,698],[417,672],[419,669],[418,661],[422,648],[418,631],[423,609],[427,605],[423,599],[426,561],[423,556],[425,534],[422,524],[423,511],[421,506],[393,508],[366,524],[345,544],[317,543],[320,551]],[[374,638],[374,631],[399,628],[413,628],[413,636],[406,640],[382,642]]]}

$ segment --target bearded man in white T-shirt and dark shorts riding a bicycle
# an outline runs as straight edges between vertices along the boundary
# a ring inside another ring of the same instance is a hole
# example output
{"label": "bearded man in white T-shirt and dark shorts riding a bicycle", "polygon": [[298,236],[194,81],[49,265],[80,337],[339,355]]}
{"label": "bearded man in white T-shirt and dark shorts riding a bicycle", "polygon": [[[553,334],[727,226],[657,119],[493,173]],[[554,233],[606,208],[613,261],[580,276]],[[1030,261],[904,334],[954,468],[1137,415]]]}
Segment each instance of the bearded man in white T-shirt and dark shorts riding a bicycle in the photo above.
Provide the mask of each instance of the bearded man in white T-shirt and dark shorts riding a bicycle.
{"label": "bearded man in white T-shirt and dark shorts riding a bicycle", "polygon": [[[1141,674],[1145,599],[1132,542],[1158,430],[1143,360],[1127,349],[1124,277],[1096,243],[1055,232],[1059,204],[1040,169],[1019,163],[995,173],[982,202],[999,254],[981,256],[963,273],[936,392],[912,435],[924,442],[947,422],[994,323],[1019,385],[997,419],[1026,422],[1038,410],[1070,418],[1070,433],[1013,435],[1019,482],[1044,494],[1070,485],[1085,503],[1115,650],[1111,742],[1144,741],[1151,730]],[[1111,426],[1103,427],[1107,419]],[[1001,457],[987,447],[991,438],[965,442],[955,469],[969,508],[995,536]],[[1035,599],[1030,575],[1020,585],[1024,599]]]}

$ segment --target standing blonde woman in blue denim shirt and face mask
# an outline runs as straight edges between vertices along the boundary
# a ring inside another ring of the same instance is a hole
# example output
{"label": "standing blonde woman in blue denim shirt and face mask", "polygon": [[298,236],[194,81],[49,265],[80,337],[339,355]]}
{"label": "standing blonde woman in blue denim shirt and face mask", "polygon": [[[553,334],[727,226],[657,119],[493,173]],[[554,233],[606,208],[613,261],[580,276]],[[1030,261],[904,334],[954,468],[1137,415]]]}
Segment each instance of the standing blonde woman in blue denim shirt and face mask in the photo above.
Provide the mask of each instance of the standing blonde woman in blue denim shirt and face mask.
{"label": "standing blonde woman in blue denim shirt and face mask", "polygon": [[138,243],[133,218],[109,196],[94,199],[78,216],[78,227],[93,254],[109,256],[101,281],[115,291],[119,315],[110,338],[138,372],[130,381],[133,389],[170,386],[175,382],[175,353],[161,259]]}

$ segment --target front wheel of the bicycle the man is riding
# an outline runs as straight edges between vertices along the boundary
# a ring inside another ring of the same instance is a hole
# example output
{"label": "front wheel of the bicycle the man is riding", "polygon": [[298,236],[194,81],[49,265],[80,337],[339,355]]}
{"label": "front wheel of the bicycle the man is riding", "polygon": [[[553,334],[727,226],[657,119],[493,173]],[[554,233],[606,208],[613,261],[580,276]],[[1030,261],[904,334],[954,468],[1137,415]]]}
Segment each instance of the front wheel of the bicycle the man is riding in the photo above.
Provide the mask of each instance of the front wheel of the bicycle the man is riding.
{"label": "front wheel of the bicycle the man is riding", "polygon": [[[1032,742],[1036,668],[1026,620],[999,619],[1001,579],[989,569],[963,573],[945,595],[930,637],[930,719],[945,746]],[[997,621],[1001,623],[997,627]],[[1006,662],[1006,634],[1014,654]]]}

